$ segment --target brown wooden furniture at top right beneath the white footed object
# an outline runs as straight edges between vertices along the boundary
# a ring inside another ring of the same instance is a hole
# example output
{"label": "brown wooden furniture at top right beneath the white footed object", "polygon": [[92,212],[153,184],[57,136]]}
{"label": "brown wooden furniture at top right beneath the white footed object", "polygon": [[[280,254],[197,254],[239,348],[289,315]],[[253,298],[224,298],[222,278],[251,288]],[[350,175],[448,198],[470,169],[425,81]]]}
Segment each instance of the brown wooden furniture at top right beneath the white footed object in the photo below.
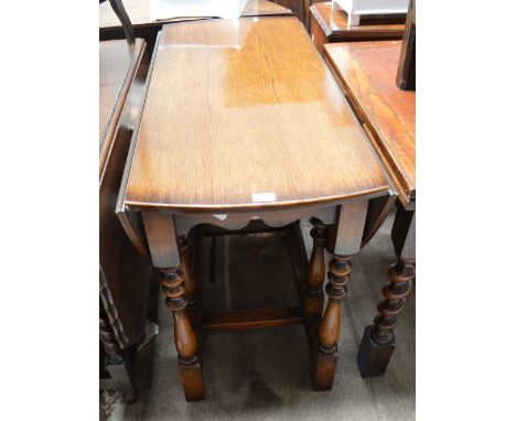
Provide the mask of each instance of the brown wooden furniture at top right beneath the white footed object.
{"label": "brown wooden furniture at top right beneath the white footed object", "polygon": [[359,26],[351,26],[347,13],[331,1],[310,8],[312,41],[323,53],[323,45],[333,42],[400,40],[405,15],[363,17]]}

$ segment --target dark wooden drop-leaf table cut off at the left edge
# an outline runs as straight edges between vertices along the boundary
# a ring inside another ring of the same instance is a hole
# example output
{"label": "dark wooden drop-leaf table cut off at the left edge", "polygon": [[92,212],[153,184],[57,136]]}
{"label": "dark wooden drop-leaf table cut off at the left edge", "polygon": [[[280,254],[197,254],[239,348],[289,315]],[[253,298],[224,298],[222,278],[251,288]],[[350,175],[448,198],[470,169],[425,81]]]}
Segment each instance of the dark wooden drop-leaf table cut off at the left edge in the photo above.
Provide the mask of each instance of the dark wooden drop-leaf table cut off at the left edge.
{"label": "dark wooden drop-leaf table cut off at the left edge", "polygon": [[[137,397],[135,348],[143,338],[152,273],[115,213],[149,57],[146,42],[99,43],[100,387]],[[140,246],[142,247],[142,246]]]}

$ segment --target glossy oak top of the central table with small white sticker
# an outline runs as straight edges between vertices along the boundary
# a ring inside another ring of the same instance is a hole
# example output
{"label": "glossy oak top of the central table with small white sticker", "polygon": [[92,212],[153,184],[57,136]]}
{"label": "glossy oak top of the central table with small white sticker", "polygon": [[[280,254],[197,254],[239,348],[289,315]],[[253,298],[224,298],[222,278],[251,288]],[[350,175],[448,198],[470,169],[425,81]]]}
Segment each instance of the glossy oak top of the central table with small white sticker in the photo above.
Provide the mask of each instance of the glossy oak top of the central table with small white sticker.
{"label": "glossy oak top of the central table with small white sticker", "polygon": [[164,26],[128,179],[129,208],[189,213],[334,204],[389,188],[295,18]]}

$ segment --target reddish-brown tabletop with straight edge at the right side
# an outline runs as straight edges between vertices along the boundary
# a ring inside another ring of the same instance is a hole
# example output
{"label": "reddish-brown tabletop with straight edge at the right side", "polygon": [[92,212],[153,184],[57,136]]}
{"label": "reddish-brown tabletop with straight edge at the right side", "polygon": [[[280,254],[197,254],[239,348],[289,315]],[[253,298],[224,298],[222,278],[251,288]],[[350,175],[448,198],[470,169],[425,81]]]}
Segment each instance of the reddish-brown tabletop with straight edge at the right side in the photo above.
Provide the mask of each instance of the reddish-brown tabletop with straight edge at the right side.
{"label": "reddish-brown tabletop with straight edge at the right side", "polygon": [[327,62],[369,132],[404,205],[416,199],[416,93],[396,86],[401,42],[324,46]]}

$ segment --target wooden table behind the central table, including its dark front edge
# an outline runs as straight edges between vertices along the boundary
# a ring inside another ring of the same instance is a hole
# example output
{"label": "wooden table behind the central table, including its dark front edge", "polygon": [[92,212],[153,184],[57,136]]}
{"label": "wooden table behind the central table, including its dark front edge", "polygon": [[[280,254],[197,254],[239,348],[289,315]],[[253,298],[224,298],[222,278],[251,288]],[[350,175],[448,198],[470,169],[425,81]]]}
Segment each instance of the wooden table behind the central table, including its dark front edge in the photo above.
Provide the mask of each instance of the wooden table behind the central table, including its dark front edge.
{"label": "wooden table behind the central table, including its dark front edge", "polygon": [[[152,0],[122,0],[125,9],[132,22],[135,35],[146,40],[149,51],[153,51],[155,36],[163,24],[178,23],[189,20],[200,20],[200,18],[166,19],[154,21],[152,19]],[[161,0],[155,0],[161,1]],[[99,32],[100,40],[119,40],[125,36],[120,20],[115,14],[108,2],[101,3],[99,9]],[[244,9],[244,17],[260,15],[291,15],[290,9],[283,8],[268,0],[249,0]],[[202,18],[201,18],[202,19]]]}

